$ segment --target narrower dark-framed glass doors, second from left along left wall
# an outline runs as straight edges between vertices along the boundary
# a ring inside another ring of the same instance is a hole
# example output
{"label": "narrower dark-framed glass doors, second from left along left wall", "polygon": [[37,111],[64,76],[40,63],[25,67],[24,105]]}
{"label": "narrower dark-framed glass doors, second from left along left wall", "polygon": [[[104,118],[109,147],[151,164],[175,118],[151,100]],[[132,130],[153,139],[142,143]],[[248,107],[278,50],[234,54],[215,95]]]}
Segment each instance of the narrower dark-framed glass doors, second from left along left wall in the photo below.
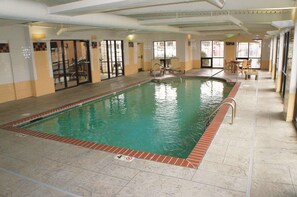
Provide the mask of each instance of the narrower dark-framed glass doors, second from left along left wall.
{"label": "narrower dark-framed glass doors, second from left along left wall", "polygon": [[101,80],[123,76],[124,53],[122,40],[101,41]]}

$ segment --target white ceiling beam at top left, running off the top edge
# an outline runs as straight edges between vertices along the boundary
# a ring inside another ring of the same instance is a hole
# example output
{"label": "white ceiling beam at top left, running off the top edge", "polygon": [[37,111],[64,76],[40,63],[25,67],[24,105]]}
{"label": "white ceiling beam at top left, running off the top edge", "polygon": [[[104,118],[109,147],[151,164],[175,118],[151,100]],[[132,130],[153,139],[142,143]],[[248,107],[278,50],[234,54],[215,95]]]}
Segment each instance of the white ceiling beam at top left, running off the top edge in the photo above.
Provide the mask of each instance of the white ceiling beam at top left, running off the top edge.
{"label": "white ceiling beam at top left, running off the top edge", "polygon": [[65,3],[57,6],[52,6],[48,8],[50,14],[59,14],[64,12],[76,12],[87,9],[93,9],[100,6],[107,6],[114,3],[124,2],[125,0],[84,0],[84,1],[75,1],[72,3]]}

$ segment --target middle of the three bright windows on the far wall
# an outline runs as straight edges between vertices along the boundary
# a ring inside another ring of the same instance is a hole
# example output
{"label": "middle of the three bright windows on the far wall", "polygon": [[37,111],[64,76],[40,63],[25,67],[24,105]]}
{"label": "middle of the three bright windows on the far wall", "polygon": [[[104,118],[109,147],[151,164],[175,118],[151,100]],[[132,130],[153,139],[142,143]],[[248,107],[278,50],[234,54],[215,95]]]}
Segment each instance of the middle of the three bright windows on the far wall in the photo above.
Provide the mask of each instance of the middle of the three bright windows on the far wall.
{"label": "middle of the three bright windows on the far wall", "polygon": [[224,42],[201,41],[201,65],[203,68],[223,68]]}

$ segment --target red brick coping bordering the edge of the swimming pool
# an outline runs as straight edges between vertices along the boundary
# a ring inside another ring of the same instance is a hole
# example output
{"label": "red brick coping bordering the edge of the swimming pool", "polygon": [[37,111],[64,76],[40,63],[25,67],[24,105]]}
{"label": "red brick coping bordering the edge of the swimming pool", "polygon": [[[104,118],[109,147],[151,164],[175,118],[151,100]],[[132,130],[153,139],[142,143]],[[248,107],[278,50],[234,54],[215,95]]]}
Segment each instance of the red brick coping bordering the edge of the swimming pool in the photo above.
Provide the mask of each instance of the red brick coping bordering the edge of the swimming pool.
{"label": "red brick coping bordering the edge of the swimming pool", "polygon": [[[133,87],[133,86],[137,86],[139,84],[146,83],[148,81],[151,81],[151,80],[145,80],[142,82],[133,83],[129,86],[119,88],[114,91],[108,91],[101,95],[93,96],[88,99],[83,99],[78,102],[70,103],[70,104],[67,104],[67,105],[52,109],[52,110],[48,110],[48,111],[45,111],[45,112],[42,112],[42,113],[39,113],[39,114],[36,114],[33,116],[29,116],[29,117],[26,117],[26,118],[23,118],[20,120],[16,120],[16,121],[1,125],[0,128],[6,129],[9,131],[14,131],[17,133],[22,133],[25,135],[31,135],[31,136],[54,140],[54,141],[58,141],[58,142],[62,142],[62,143],[81,146],[81,147],[85,147],[85,148],[89,148],[89,149],[93,149],[93,150],[106,151],[106,152],[115,153],[115,154],[123,154],[123,155],[131,156],[131,157],[135,157],[135,158],[139,158],[139,159],[157,161],[157,162],[161,162],[161,163],[173,164],[173,165],[183,166],[183,167],[188,167],[188,168],[198,168],[204,155],[206,154],[208,147],[210,146],[214,136],[216,135],[221,123],[223,122],[226,113],[228,112],[229,106],[227,106],[227,105],[224,105],[220,108],[220,110],[218,111],[218,113],[216,114],[216,116],[214,117],[214,119],[212,120],[210,125],[206,128],[205,132],[203,133],[203,135],[201,136],[201,138],[195,145],[194,149],[192,150],[192,152],[186,159],[176,158],[176,157],[172,157],[172,156],[165,156],[165,155],[160,155],[160,154],[154,154],[154,153],[149,153],[149,152],[143,152],[143,151],[136,151],[136,150],[131,150],[128,148],[120,148],[120,147],[109,146],[109,145],[105,145],[105,144],[98,144],[95,142],[88,142],[88,141],[84,141],[84,140],[62,137],[62,136],[57,136],[57,135],[53,135],[53,134],[41,133],[41,132],[31,131],[31,130],[28,130],[25,128],[17,127],[18,125],[29,122],[31,120],[38,119],[38,118],[41,118],[44,116],[48,116],[48,115],[51,115],[51,114],[54,114],[54,113],[57,113],[60,111],[64,111],[66,109],[70,109],[72,107],[96,100],[96,99],[106,96],[108,94],[111,94],[114,92],[119,92],[119,91],[122,91],[129,87]],[[226,80],[226,81],[230,82],[229,80]],[[240,82],[236,82],[234,87],[230,91],[228,97],[234,98],[238,89],[239,89],[239,86],[240,86]]]}

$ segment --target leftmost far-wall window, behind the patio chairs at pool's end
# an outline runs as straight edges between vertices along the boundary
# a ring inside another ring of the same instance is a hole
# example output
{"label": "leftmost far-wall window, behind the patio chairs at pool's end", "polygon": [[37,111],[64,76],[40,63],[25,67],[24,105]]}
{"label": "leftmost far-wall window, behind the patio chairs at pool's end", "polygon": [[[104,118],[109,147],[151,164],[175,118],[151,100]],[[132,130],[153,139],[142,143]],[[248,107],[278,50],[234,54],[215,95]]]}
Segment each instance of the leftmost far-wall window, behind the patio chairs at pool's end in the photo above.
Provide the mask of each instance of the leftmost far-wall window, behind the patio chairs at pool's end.
{"label": "leftmost far-wall window, behind the patio chairs at pool's end", "polygon": [[169,59],[176,56],[176,41],[154,42],[154,59],[161,59],[163,66],[168,66]]}

